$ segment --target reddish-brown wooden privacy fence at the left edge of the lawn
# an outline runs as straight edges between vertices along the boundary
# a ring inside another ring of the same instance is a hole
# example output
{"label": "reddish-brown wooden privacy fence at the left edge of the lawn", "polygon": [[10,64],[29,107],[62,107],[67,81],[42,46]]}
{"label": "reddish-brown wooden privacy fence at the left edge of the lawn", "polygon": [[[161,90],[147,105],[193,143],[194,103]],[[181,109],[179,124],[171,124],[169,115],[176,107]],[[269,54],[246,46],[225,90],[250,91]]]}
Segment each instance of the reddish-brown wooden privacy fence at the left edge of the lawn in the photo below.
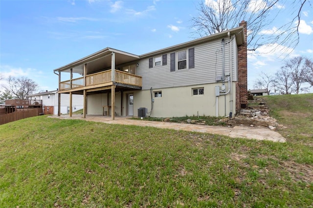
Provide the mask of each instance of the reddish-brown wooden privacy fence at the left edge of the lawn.
{"label": "reddish-brown wooden privacy fence at the left edge of the lawn", "polygon": [[39,116],[39,113],[42,111],[41,108],[32,108],[32,109],[22,109],[15,111],[13,113],[1,114],[0,115],[0,125],[6,124],[9,122],[18,121],[21,119]]}

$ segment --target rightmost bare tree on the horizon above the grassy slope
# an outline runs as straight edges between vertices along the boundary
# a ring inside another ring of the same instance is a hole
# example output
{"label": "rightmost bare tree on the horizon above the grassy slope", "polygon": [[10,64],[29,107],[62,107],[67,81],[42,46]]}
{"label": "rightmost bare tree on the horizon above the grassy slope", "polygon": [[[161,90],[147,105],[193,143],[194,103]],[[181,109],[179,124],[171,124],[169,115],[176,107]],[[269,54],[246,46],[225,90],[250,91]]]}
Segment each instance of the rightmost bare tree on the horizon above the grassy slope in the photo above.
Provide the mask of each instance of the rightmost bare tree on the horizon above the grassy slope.
{"label": "rightmost bare tree on the horizon above the grassy slope", "polygon": [[291,72],[291,78],[294,84],[295,93],[299,94],[299,90],[302,83],[306,82],[308,73],[310,72],[309,60],[298,56],[292,59],[289,59],[285,62],[283,68]]}

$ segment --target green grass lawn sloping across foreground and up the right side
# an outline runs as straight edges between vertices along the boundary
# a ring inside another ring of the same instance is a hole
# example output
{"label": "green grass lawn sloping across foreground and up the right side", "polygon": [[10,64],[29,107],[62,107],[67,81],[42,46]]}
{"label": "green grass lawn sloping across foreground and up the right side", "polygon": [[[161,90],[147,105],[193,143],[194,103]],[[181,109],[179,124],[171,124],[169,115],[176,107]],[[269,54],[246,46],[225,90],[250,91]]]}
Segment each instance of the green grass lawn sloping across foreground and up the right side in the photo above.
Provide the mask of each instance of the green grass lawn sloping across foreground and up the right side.
{"label": "green grass lawn sloping across foreground and up the right side", "polygon": [[312,207],[313,95],[285,98],[265,97],[287,143],[46,116],[0,125],[0,207]]}

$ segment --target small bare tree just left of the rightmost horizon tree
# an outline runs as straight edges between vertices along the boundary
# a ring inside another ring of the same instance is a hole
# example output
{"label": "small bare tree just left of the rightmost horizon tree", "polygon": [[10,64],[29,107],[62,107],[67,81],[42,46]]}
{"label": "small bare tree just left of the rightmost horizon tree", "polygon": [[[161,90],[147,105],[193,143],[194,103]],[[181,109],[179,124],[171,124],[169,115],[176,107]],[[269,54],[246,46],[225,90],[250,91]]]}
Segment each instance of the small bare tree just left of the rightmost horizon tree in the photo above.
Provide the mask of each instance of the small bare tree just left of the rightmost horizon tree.
{"label": "small bare tree just left of the rightmost horizon tree", "polygon": [[275,76],[277,87],[281,90],[281,93],[290,94],[293,80],[289,68],[281,67],[280,70],[275,73]]}

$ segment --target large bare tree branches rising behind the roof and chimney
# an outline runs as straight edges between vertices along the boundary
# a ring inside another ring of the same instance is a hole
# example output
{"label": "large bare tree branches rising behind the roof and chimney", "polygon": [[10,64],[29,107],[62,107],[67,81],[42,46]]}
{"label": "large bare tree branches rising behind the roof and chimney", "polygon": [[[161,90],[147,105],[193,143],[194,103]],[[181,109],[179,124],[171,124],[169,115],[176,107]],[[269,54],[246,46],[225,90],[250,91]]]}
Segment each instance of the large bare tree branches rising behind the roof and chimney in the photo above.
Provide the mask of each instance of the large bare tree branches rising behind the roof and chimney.
{"label": "large bare tree branches rising behind the roof and chimney", "polygon": [[[196,36],[207,36],[237,27],[247,21],[248,50],[256,50],[265,44],[280,44],[294,48],[299,42],[299,25],[303,5],[309,0],[293,0],[290,21],[278,28],[268,28],[275,18],[269,16],[275,8],[275,16],[282,12],[285,0],[205,0],[197,10],[199,16],[191,19]],[[296,22],[296,24],[295,24]]]}

